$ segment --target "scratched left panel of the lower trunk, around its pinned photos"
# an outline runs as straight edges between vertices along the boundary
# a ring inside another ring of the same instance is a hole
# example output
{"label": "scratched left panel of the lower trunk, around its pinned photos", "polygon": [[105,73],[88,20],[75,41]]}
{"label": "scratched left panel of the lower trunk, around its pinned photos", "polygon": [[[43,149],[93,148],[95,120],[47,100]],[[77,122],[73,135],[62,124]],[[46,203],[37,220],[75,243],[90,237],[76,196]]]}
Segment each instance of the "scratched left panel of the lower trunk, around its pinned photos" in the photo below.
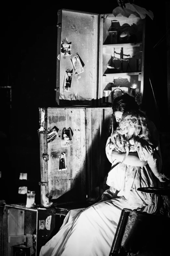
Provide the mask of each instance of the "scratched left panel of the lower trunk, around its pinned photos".
{"label": "scratched left panel of the lower trunk, around its pinned photos", "polygon": [[[59,197],[61,200],[85,198],[85,108],[48,108],[47,111],[48,129],[56,126],[60,136],[48,143],[49,201]],[[67,147],[61,147],[64,127],[73,131],[73,144]],[[65,153],[67,170],[59,171],[61,153]]]}

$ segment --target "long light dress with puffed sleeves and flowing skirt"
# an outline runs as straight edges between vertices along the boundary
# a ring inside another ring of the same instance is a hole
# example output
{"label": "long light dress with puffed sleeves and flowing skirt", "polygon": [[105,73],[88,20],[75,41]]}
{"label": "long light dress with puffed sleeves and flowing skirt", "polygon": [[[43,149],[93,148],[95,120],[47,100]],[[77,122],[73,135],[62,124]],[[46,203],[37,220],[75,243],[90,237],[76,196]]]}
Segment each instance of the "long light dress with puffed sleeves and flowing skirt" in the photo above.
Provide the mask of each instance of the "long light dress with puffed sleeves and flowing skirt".
{"label": "long light dress with puffed sleeves and flowing skirt", "polygon": [[[108,138],[106,154],[111,162],[110,150]],[[156,164],[151,148],[139,145],[137,150],[141,160]],[[40,256],[108,256],[123,208],[140,207],[141,212],[148,213],[157,210],[158,196],[136,191],[138,187],[156,185],[149,165],[134,167],[115,161],[108,174],[110,188],[104,192],[103,202],[71,210],[58,233],[41,248]]]}

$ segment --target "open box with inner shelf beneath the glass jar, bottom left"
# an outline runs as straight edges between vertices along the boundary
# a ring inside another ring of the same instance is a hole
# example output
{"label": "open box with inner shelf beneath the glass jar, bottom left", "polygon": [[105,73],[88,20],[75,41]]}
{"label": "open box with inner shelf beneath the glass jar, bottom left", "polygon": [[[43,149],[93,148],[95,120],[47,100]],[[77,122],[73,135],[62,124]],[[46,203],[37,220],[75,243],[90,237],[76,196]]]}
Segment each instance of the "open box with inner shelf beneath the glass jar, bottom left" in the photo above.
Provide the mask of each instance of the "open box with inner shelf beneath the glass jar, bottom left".
{"label": "open box with inner shelf beneath the glass jar, bottom left", "polygon": [[[41,247],[56,233],[55,209],[40,207],[5,205],[2,256],[39,255]],[[14,246],[18,246],[18,252]]]}

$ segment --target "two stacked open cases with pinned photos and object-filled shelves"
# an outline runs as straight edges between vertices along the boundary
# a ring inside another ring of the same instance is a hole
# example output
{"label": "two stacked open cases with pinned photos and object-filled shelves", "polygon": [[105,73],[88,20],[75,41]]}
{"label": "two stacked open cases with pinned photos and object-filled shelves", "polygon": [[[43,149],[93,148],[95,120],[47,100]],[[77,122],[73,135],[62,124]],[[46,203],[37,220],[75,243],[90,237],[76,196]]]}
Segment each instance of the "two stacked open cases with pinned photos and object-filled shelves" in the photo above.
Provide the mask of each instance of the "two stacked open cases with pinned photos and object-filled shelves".
{"label": "two stacked open cases with pinned photos and object-filled shelves", "polygon": [[[109,171],[105,145],[113,99],[125,92],[140,103],[143,95],[145,21],[113,14],[58,11],[56,101],[39,109],[41,204],[86,200],[101,195]],[[78,56],[80,72],[74,58]],[[70,76],[70,88],[66,77]],[[56,127],[58,137],[47,142]],[[73,144],[61,146],[63,128]],[[65,153],[66,170],[59,171]],[[98,193],[94,193],[97,191]]]}

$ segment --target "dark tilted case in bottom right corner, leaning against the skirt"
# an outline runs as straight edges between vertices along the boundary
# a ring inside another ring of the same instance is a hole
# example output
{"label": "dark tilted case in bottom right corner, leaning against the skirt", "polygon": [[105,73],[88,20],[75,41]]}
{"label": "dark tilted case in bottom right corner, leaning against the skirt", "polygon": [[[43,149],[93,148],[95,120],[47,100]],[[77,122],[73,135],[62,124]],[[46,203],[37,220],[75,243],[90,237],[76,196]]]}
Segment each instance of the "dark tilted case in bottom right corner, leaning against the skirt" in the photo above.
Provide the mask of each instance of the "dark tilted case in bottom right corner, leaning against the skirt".
{"label": "dark tilted case in bottom right corner, leaning against the skirt", "polygon": [[123,209],[109,256],[168,255],[169,229],[170,218]]}

